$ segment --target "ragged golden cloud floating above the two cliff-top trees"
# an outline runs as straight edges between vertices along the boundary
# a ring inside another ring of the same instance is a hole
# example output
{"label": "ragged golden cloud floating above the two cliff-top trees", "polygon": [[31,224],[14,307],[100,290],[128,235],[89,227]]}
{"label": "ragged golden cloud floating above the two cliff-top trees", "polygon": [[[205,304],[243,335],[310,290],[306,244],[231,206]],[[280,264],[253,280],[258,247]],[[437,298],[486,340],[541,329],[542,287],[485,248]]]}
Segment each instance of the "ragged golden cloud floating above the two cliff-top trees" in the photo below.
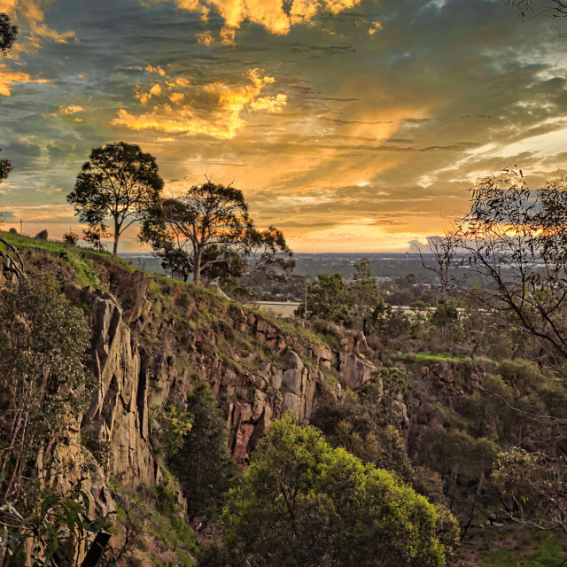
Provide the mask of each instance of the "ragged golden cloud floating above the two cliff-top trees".
{"label": "ragged golden cloud floating above the two cliff-top trees", "polygon": [[[152,98],[157,98],[158,103],[149,112],[138,116],[122,108],[111,123],[134,130],[231,139],[246,125],[243,113],[279,113],[287,105],[287,95],[282,93],[260,96],[263,89],[276,81],[274,77],[264,75],[260,69],[252,69],[247,79],[249,84],[245,85],[217,81],[200,86],[183,78],[167,78],[147,90],[138,86],[136,97],[142,104]],[[183,104],[185,100],[190,103]]]}

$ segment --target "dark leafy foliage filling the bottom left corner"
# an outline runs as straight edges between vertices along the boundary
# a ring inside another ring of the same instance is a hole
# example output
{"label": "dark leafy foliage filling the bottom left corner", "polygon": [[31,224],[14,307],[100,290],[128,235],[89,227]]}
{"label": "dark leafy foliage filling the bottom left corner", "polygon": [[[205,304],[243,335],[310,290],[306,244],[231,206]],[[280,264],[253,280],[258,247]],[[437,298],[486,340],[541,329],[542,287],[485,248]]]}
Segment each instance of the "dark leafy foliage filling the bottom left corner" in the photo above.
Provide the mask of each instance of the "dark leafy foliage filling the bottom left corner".
{"label": "dark leafy foliage filling the bottom left corner", "polygon": [[82,483],[63,495],[46,493],[25,516],[20,514],[15,501],[6,501],[0,506],[3,564],[75,564],[82,545],[108,524],[108,517],[89,518],[89,497]]}

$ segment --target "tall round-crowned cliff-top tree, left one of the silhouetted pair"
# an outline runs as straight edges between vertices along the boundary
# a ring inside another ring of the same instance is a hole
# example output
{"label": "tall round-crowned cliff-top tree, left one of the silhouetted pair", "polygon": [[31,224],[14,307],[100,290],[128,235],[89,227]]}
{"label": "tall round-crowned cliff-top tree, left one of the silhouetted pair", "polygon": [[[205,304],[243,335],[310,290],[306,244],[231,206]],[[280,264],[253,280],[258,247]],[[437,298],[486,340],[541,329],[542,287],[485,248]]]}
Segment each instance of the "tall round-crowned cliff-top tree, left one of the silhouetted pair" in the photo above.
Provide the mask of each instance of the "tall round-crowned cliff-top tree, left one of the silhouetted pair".
{"label": "tall round-crowned cliff-top tree, left one of the silhouetted pair", "polygon": [[112,219],[116,254],[120,235],[148,217],[162,187],[155,158],[136,144],[119,142],[90,152],[67,201],[89,225],[89,234],[102,236],[108,228],[106,220]]}

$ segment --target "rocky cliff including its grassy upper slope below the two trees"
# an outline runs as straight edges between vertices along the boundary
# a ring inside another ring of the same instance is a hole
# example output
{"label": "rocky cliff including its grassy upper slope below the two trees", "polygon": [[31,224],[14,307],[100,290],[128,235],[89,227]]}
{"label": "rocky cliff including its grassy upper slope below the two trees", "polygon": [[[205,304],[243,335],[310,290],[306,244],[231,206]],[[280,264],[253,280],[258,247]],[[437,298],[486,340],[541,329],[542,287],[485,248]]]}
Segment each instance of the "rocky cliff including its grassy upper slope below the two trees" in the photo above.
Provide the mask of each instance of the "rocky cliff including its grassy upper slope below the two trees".
{"label": "rocky cliff including its grassy upper slope below the two trees", "polygon": [[[89,316],[89,368],[99,387],[82,423],[69,428],[56,450],[68,465],[84,462],[85,453],[96,459],[88,488],[98,513],[113,509],[110,478],[126,488],[161,482],[152,408],[183,406],[196,375],[220,401],[229,449],[245,468],[272,420],[286,411],[308,420],[323,387],[340,398],[375,370],[363,355],[361,334],[336,330],[330,346],[300,322],[275,322],[214,292],[133,272],[105,256],[93,257],[90,285],[81,285],[58,258],[27,256],[31,272],[40,264],[66,282],[66,298]],[[79,469],[66,484],[83,476]]]}

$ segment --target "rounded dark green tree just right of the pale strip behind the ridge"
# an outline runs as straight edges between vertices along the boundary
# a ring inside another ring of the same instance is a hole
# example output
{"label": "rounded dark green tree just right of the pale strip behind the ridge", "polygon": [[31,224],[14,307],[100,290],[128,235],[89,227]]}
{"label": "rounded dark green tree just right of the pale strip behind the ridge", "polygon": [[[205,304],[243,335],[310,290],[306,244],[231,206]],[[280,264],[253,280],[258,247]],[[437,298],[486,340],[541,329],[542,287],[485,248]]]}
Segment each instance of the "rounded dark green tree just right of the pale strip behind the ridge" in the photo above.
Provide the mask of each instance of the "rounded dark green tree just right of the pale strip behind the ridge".
{"label": "rounded dark green tree just right of the pale strip behind the ridge", "polygon": [[[342,323],[346,327],[353,324],[353,293],[346,290],[340,274],[319,274],[307,289],[307,315],[309,319]],[[300,305],[295,315],[303,316],[305,305]]]}

